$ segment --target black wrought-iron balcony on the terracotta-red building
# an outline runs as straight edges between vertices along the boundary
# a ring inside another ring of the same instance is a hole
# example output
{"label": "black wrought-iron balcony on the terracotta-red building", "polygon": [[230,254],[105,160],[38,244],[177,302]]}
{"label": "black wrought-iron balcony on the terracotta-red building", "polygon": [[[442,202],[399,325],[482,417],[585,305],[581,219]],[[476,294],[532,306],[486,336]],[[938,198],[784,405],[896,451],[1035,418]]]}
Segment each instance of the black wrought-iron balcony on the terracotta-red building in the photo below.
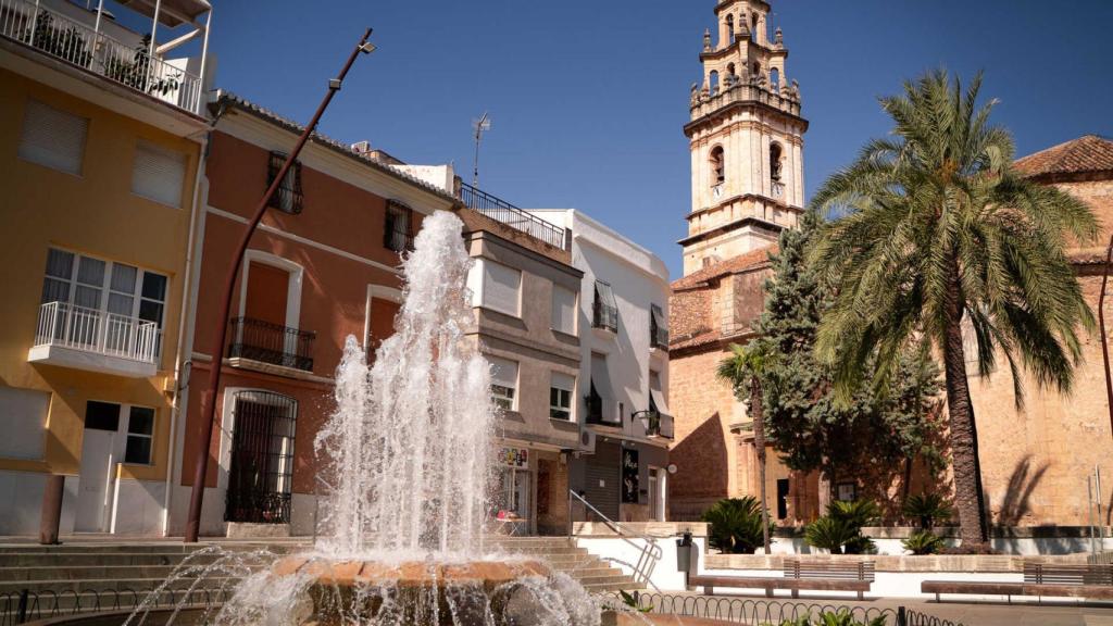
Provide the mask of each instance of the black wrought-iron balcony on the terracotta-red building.
{"label": "black wrought-iron balcony on the terracotta-red building", "polygon": [[252,317],[233,317],[228,360],[234,368],[275,374],[313,372],[317,333]]}

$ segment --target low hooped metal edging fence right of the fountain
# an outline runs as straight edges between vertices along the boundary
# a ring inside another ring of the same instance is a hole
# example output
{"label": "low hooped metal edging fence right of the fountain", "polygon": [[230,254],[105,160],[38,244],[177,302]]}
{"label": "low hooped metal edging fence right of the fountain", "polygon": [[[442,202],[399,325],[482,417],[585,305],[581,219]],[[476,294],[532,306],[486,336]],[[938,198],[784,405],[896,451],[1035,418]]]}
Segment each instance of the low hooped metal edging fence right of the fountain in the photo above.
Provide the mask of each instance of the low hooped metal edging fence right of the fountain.
{"label": "low hooped metal edging fence right of the fountain", "polygon": [[[633,606],[630,606],[630,605]],[[821,616],[849,615],[860,624],[879,622],[886,626],[962,626],[932,615],[912,610],[904,606],[881,608],[871,606],[839,605],[833,603],[804,603],[759,600],[750,598],[723,598],[708,596],[681,596],[671,594],[634,591],[626,597],[621,593],[608,593],[603,607],[614,610],[649,609],[653,614],[699,617],[731,622],[735,624],[782,624],[811,620],[820,622]]]}

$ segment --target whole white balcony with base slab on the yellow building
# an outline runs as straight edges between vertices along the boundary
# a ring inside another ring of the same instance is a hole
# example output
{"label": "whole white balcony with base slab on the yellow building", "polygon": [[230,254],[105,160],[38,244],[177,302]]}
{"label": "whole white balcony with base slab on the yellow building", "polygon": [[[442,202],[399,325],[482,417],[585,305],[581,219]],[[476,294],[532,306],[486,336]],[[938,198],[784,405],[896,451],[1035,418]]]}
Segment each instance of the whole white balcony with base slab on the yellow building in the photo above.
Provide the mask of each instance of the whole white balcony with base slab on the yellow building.
{"label": "whole white balcony with base slab on the yellow building", "polygon": [[49,302],[39,306],[30,363],[75,368],[128,378],[158,371],[158,324],[135,317]]}

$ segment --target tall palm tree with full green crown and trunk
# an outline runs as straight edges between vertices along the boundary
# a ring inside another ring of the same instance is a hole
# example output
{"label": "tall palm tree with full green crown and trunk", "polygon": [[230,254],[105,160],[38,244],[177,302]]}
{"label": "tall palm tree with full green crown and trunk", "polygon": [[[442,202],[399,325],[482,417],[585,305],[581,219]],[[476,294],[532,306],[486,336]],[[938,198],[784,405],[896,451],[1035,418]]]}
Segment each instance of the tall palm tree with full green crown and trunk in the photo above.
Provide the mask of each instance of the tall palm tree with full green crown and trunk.
{"label": "tall palm tree with full green crown and trunk", "polygon": [[1022,368],[1041,388],[1070,392],[1077,329],[1094,321],[1064,248],[1068,236],[1097,229],[1083,203],[1013,169],[1012,136],[989,124],[996,101],[978,105],[981,85],[979,74],[964,90],[940,70],[881,98],[892,136],[866,144],[819,189],[814,205],[843,216],[824,225],[809,256],[836,291],[816,352],[834,366],[839,398],[865,382],[871,355],[875,389],[909,341],[923,338],[942,355],[967,547],[987,536],[967,360],[988,376],[1004,356],[1017,408]]}

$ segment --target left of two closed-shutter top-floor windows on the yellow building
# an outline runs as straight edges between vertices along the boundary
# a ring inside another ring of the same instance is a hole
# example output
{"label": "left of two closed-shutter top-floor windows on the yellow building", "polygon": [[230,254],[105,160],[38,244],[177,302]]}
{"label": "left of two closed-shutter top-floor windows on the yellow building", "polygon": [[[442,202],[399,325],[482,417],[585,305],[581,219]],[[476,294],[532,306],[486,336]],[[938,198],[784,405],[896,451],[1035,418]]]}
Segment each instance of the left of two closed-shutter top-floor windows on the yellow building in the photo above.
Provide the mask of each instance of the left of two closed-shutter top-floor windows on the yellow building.
{"label": "left of two closed-shutter top-floor windows on the yellow building", "polygon": [[27,101],[19,157],[47,167],[81,174],[89,120],[38,100]]}

